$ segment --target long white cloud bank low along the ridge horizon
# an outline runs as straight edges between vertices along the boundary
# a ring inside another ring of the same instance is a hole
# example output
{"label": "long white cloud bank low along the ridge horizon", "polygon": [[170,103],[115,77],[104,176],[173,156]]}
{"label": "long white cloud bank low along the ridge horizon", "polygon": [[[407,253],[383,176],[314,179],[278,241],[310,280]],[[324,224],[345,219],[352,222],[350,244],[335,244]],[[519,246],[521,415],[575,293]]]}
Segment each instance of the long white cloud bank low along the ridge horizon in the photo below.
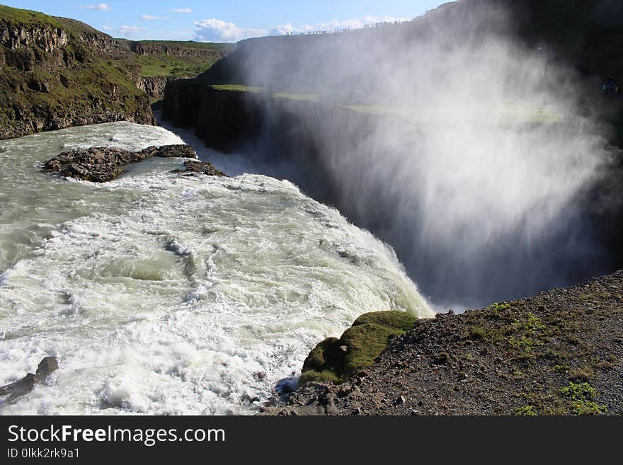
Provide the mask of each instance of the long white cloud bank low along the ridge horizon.
{"label": "long white cloud bank low along the ridge horizon", "polygon": [[304,24],[295,28],[290,23],[273,26],[270,30],[239,28],[234,23],[227,23],[220,19],[204,19],[195,21],[195,40],[202,42],[238,42],[239,40],[263,35],[306,34],[314,31],[333,32],[345,29],[360,29],[377,23],[394,23],[395,21],[408,21],[408,18],[394,18],[393,16],[365,16],[358,19],[345,21],[329,21],[315,25]]}

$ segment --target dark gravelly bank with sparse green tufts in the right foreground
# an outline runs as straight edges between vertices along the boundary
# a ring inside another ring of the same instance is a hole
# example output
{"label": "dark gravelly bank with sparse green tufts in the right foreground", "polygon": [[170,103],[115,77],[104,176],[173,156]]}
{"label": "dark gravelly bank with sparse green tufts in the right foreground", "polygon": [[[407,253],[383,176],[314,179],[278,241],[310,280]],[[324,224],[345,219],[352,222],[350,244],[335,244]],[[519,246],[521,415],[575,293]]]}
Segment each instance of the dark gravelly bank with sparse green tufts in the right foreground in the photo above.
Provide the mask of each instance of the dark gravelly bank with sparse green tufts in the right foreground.
{"label": "dark gravelly bank with sparse green tufts in the right foreground", "polygon": [[622,415],[623,271],[416,321],[343,384],[271,415]]}

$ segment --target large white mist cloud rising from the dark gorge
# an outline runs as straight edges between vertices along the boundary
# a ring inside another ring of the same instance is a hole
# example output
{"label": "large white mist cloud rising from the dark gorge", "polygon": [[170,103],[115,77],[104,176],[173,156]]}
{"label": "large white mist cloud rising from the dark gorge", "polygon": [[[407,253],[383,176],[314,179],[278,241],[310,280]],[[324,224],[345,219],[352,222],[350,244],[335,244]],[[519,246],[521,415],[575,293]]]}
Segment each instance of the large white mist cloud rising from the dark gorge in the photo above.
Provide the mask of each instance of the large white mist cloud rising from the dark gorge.
{"label": "large white mist cloud rising from the dark gorge", "polygon": [[[284,108],[299,127],[287,145],[266,132],[264,150],[290,152],[284,176],[393,246],[440,307],[527,296],[611,266],[589,220],[611,156],[604,126],[585,84],[547,45],[522,45],[503,5],[248,40],[230,59],[241,82],[315,101],[270,105],[273,129]],[[313,170],[297,153],[310,141]]]}

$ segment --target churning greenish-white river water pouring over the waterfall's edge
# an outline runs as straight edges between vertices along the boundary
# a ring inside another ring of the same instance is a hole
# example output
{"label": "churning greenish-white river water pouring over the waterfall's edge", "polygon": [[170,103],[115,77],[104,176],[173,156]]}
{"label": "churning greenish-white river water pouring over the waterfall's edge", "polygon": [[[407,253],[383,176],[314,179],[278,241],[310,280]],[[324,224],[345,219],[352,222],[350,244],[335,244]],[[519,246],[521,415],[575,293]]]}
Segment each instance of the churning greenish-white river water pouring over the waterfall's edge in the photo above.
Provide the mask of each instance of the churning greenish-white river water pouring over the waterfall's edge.
{"label": "churning greenish-white river water pouring over the waterfall's edge", "polygon": [[391,248],[285,180],[170,173],[181,159],[105,185],[39,168],[181,142],[125,122],[0,141],[0,385],[59,359],[1,413],[253,413],[359,314],[430,316]]}

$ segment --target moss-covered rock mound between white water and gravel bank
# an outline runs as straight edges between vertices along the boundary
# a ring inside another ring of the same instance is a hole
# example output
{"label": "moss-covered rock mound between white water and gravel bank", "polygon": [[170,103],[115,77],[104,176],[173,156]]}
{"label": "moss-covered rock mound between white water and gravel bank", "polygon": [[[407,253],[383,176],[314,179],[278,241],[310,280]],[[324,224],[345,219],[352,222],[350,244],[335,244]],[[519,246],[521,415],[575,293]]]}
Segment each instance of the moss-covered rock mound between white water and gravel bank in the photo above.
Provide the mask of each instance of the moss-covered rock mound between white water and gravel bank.
{"label": "moss-covered rock mound between white water and gravel bank", "polygon": [[344,331],[340,339],[327,338],[309,352],[303,364],[301,383],[343,383],[353,374],[370,367],[387,348],[391,338],[409,331],[416,320],[404,311],[363,314]]}

